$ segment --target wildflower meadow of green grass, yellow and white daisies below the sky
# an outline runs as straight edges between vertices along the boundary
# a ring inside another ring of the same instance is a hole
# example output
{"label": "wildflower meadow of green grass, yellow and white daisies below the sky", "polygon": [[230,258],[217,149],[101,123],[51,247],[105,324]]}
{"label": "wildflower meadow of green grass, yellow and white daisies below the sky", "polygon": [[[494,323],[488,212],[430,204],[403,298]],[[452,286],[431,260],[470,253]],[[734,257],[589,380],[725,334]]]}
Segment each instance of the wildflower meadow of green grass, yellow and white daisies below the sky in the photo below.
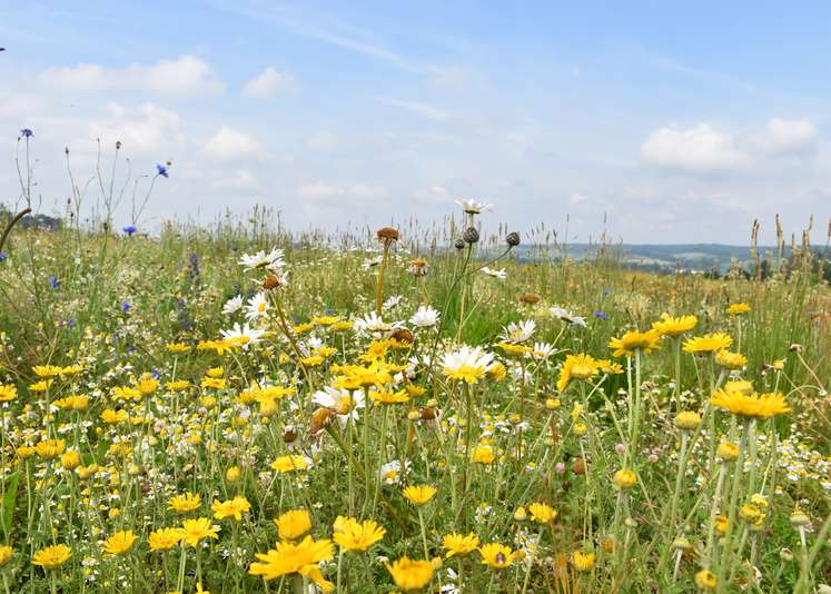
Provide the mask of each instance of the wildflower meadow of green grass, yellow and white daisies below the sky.
{"label": "wildflower meadow of green grass, yellow and white daisies below the sky", "polygon": [[[14,229],[6,591],[829,582],[815,268],[659,276],[534,235],[520,261],[507,229],[465,231],[478,218]],[[695,319],[673,337],[664,314]]]}

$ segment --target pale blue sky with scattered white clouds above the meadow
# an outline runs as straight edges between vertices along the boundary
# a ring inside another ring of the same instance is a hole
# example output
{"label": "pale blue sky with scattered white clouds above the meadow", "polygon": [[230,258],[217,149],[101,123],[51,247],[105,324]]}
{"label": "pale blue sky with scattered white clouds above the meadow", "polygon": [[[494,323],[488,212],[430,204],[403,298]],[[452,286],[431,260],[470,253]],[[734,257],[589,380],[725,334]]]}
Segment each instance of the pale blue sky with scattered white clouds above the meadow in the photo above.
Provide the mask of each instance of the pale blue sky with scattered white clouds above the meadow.
{"label": "pale blue sky with scattered white clouds above the meadow", "polygon": [[831,3],[683,4],[0,0],[0,201],[29,128],[46,214],[65,148],[86,212],[126,188],[117,225],[171,161],[146,229],[255,205],[426,225],[475,199],[571,241],[746,245],[759,219],[770,244],[779,212],[824,244]]}

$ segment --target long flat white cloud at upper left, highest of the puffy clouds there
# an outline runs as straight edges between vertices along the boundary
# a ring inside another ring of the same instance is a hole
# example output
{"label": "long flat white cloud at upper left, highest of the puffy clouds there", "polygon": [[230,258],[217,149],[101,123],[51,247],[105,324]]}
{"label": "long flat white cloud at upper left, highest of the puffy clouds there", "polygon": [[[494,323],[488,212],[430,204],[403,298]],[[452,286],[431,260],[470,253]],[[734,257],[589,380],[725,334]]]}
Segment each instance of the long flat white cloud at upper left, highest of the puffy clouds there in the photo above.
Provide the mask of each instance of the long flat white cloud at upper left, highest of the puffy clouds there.
{"label": "long flat white cloud at upper left, highest of the puffy clouds there", "polygon": [[61,91],[129,90],[190,97],[215,96],[225,90],[225,83],[212,73],[210,66],[194,56],[159,60],[152,66],[51,68],[41,72],[40,81],[49,89]]}

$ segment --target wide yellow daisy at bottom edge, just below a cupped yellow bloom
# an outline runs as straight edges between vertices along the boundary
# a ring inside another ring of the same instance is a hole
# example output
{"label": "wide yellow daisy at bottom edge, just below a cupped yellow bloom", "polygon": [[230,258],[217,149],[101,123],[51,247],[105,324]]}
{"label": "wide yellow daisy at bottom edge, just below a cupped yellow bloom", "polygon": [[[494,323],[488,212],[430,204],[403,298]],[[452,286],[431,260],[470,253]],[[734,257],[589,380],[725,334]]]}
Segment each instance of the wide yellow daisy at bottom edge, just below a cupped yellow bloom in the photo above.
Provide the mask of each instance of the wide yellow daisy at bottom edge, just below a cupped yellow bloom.
{"label": "wide yellow daisy at bottom edge, just below a cupped yellow bloom", "polygon": [[315,541],[311,536],[306,536],[297,544],[277,543],[266,554],[257,553],[257,558],[263,563],[251,563],[248,573],[261,575],[266,581],[296,573],[310,577],[324,592],[332,592],[335,584],[324,580],[318,564],[334,556],[332,541]]}

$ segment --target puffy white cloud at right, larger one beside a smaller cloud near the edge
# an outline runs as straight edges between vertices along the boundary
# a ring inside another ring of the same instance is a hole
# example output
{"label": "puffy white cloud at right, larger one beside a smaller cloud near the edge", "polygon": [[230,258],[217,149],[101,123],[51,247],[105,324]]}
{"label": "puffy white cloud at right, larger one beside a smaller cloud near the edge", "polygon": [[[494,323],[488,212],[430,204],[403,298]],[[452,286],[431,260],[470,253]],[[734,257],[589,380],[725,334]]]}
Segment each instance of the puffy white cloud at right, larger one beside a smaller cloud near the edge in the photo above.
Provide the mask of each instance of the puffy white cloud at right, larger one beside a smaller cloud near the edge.
{"label": "puffy white cloud at right, larger one beside a smaller cloud near the edge", "polygon": [[664,127],[641,145],[647,165],[690,174],[730,171],[745,165],[748,157],[735,139],[708,123],[692,128]]}

